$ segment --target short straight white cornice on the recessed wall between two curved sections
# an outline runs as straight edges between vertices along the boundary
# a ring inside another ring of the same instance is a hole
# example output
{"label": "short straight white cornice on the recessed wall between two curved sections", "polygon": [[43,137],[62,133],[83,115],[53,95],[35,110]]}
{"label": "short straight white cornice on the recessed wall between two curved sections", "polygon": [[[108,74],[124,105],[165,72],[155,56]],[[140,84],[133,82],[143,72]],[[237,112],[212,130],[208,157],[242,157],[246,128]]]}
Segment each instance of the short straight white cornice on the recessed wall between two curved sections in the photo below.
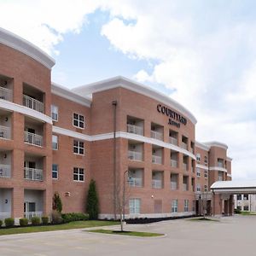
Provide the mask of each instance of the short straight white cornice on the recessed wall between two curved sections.
{"label": "short straight white cornice on the recessed wall between two curved sections", "polygon": [[77,93],[74,93],[72,90],[61,86],[60,84],[52,83],[51,93],[90,108],[91,100],[88,97],[79,96]]}

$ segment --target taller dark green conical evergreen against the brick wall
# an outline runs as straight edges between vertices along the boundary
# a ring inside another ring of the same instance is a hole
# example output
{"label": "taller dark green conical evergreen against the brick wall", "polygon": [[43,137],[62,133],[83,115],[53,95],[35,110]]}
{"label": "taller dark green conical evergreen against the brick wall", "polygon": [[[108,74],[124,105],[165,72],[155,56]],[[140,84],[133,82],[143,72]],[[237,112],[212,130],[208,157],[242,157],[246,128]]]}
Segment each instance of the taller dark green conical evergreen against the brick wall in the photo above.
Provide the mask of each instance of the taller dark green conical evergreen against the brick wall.
{"label": "taller dark green conical evergreen against the brick wall", "polygon": [[87,195],[86,212],[89,214],[90,219],[97,219],[99,214],[99,200],[96,192],[95,180],[90,180],[90,185]]}

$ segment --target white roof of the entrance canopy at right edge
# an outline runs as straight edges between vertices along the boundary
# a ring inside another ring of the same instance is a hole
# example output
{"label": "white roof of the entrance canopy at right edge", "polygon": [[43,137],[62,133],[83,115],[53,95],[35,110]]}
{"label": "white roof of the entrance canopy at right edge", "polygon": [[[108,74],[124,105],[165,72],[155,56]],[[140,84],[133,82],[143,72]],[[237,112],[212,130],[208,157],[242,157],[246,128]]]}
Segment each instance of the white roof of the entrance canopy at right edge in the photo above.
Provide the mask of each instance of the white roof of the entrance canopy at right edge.
{"label": "white roof of the entrance canopy at right edge", "polygon": [[256,194],[256,180],[218,181],[212,184],[211,191],[214,194]]}

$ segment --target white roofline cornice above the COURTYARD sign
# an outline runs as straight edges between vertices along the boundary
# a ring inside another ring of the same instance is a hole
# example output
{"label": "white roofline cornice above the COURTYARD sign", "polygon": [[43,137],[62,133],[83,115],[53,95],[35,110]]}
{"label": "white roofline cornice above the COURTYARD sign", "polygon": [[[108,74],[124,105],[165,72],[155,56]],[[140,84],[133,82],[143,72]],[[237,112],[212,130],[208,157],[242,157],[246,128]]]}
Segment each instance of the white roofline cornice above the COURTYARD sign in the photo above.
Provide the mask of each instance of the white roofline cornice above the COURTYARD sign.
{"label": "white roofline cornice above the COURTYARD sign", "polygon": [[144,96],[148,96],[153,98],[154,100],[160,101],[161,103],[165,103],[168,107],[174,108],[178,112],[182,113],[186,116],[190,121],[195,125],[197,120],[195,116],[189,112],[187,108],[184,108],[180,103],[176,102],[169,96],[166,96],[163,93],[160,93],[157,90],[149,88],[148,86],[135,82],[131,79],[127,79],[122,76],[113,77],[110,79],[104,79],[92,84],[85,84],[76,88],[73,88],[73,91],[79,93],[79,95],[89,95],[91,93],[95,93],[102,90],[109,90],[117,87],[122,87],[128,90],[135,91]]}

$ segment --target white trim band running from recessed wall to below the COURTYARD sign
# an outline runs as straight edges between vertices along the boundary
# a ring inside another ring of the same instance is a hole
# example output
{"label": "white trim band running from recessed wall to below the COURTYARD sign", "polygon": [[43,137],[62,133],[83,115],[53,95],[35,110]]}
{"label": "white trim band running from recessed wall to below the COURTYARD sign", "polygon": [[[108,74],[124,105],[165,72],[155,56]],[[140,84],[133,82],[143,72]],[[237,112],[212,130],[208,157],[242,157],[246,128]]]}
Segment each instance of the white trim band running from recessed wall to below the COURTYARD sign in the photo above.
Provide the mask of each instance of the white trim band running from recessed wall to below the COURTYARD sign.
{"label": "white trim band running from recessed wall to below the COURTYARD sign", "polygon": [[[70,131],[61,127],[57,127],[53,125],[52,127],[52,132],[59,133],[61,135],[66,135],[69,137],[75,137],[79,138],[84,141],[89,141],[89,142],[96,142],[96,141],[101,141],[101,140],[107,140],[113,138],[113,132],[109,133],[103,133],[103,134],[97,134],[97,135],[86,135],[86,134],[81,134],[77,131]],[[171,143],[164,143],[161,142],[160,140],[151,138],[151,137],[143,137],[141,135],[125,132],[125,131],[117,131],[116,132],[116,137],[121,137],[121,138],[126,138],[126,139],[131,139],[131,140],[137,140],[142,143],[149,143],[149,144],[154,144],[163,148],[170,148],[172,150],[175,150],[177,152],[189,155],[192,159],[195,160],[195,155],[189,152],[186,149],[179,148],[175,145],[172,145]]]}

